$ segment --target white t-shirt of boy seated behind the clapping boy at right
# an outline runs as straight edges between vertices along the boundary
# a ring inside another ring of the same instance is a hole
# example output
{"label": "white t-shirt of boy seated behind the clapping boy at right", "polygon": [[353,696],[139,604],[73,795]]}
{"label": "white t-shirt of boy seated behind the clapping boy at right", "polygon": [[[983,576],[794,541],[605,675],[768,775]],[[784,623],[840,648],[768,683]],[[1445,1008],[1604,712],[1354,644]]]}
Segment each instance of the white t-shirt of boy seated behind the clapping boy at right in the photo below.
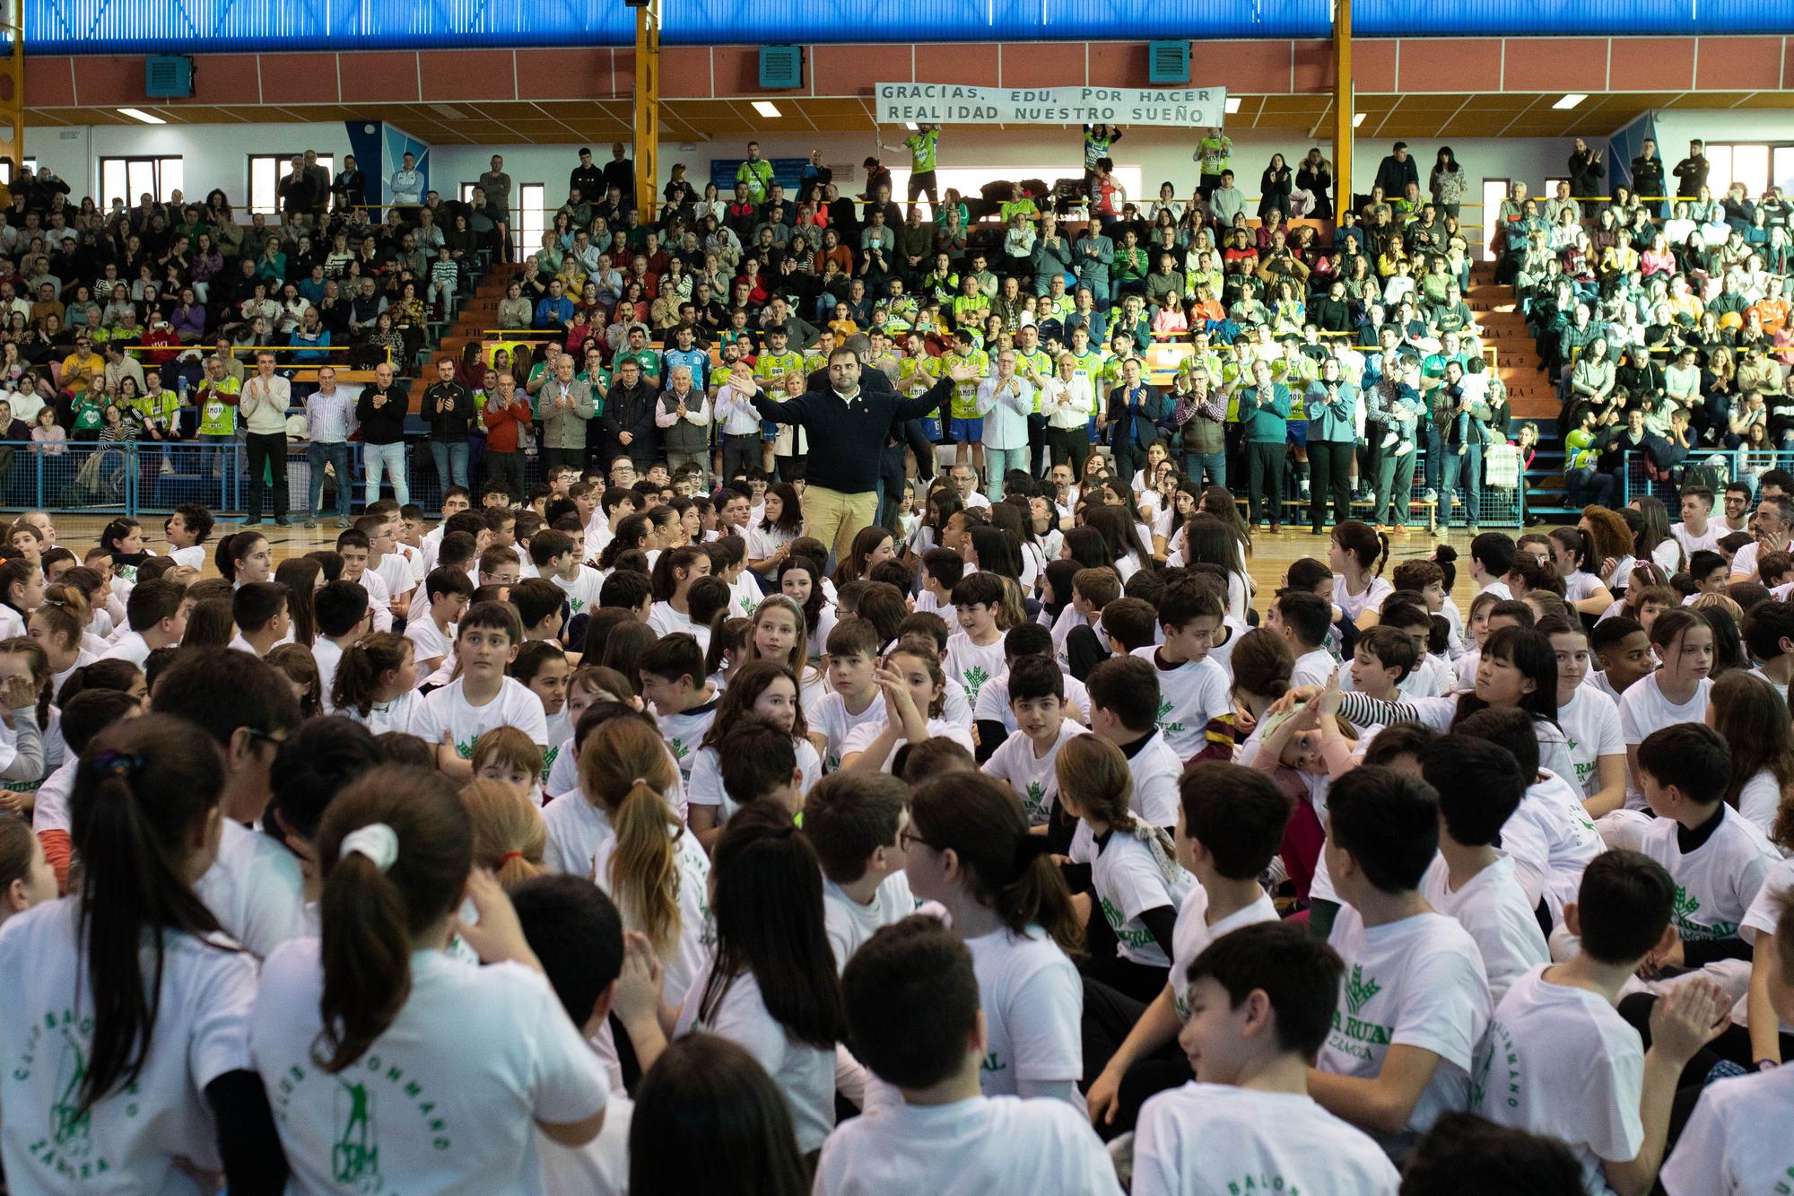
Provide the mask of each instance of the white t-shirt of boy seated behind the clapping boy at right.
{"label": "white t-shirt of boy seated behind the clapping boy at right", "polygon": [[1676,882],[1674,921],[1683,941],[1740,937],[1744,916],[1781,860],[1756,824],[1731,806],[1720,806],[1720,824],[1694,851],[1683,855],[1676,819],[1652,819],[1638,849],[1661,864]]}

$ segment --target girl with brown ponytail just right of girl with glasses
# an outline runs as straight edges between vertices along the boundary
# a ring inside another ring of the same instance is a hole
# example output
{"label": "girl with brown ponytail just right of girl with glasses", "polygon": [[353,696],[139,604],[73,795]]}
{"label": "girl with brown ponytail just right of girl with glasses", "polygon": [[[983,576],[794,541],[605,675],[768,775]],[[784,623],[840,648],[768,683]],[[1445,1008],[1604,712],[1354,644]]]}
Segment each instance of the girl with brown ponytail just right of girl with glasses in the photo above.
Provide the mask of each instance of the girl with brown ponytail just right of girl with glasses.
{"label": "girl with brown ponytail just right of girl with glasses", "polygon": [[[1058,805],[1066,817],[1078,819],[1071,862],[1091,867],[1093,893],[1073,901],[1084,910],[1085,936],[1112,937],[1116,945],[1102,957],[1093,950],[1082,970],[1150,1004],[1170,977],[1171,930],[1195,876],[1179,867],[1164,828],[1141,822],[1128,810],[1134,778],[1119,747],[1100,734],[1075,736],[1058,749],[1053,770]],[[1091,912],[1102,914],[1107,932]]]}

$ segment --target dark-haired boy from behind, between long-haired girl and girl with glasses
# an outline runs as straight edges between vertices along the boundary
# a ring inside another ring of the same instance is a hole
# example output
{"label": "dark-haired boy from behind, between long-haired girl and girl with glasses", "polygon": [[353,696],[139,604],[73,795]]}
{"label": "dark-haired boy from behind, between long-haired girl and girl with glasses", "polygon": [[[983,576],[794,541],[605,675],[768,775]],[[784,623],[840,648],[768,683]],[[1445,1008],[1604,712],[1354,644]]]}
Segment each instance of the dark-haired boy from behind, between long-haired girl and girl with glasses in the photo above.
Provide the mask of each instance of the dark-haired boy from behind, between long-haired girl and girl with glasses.
{"label": "dark-haired boy from behind, between long-haired girl and girl with glasses", "polygon": [[841,970],[879,927],[915,912],[904,849],[910,787],[890,772],[831,772],[804,796],[822,864],[822,919]]}

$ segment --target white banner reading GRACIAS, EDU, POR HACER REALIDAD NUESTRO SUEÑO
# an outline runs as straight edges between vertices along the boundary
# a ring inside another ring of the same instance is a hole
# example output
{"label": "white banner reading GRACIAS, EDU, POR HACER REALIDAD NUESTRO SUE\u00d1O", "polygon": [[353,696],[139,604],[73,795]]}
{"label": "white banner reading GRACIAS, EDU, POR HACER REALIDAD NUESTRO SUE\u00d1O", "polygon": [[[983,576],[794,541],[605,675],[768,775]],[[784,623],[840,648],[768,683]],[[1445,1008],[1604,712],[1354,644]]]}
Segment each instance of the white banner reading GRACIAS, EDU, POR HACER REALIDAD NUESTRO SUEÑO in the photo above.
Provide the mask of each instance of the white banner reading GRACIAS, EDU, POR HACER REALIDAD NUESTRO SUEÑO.
{"label": "white banner reading GRACIAS, EDU, POR HACER REALIDAD NUESTRO SUE\u00d1O", "polygon": [[1227,88],[976,88],[879,83],[879,124],[1220,126]]}

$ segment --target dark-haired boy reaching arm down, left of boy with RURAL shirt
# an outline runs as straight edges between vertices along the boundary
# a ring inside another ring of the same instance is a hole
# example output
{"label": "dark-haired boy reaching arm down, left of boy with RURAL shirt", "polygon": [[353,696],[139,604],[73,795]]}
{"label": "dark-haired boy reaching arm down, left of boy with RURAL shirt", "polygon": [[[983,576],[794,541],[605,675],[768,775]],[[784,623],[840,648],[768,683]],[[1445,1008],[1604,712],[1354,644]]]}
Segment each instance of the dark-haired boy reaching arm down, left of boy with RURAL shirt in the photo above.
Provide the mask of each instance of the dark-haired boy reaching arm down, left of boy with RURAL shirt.
{"label": "dark-haired boy reaching arm down, left of boy with RURAL shirt", "polygon": [[[1259,873],[1277,855],[1290,821],[1290,801],[1276,781],[1243,765],[1202,760],[1184,770],[1177,790],[1177,833],[1171,842],[1177,862],[1198,884],[1177,910],[1164,991],[1148,1006],[1119,995],[1102,1004],[1087,998],[1085,1016],[1094,1033],[1109,1042],[1114,1034],[1127,1034],[1085,1094],[1098,1133],[1130,1130],[1146,1097],[1191,1077],[1191,1060],[1175,1045],[1189,1020],[1189,964],[1240,927],[1277,921],[1276,903],[1258,884]],[[1121,1015],[1119,1024],[1116,1015]],[[1093,1036],[1087,1029],[1087,1042]]]}

